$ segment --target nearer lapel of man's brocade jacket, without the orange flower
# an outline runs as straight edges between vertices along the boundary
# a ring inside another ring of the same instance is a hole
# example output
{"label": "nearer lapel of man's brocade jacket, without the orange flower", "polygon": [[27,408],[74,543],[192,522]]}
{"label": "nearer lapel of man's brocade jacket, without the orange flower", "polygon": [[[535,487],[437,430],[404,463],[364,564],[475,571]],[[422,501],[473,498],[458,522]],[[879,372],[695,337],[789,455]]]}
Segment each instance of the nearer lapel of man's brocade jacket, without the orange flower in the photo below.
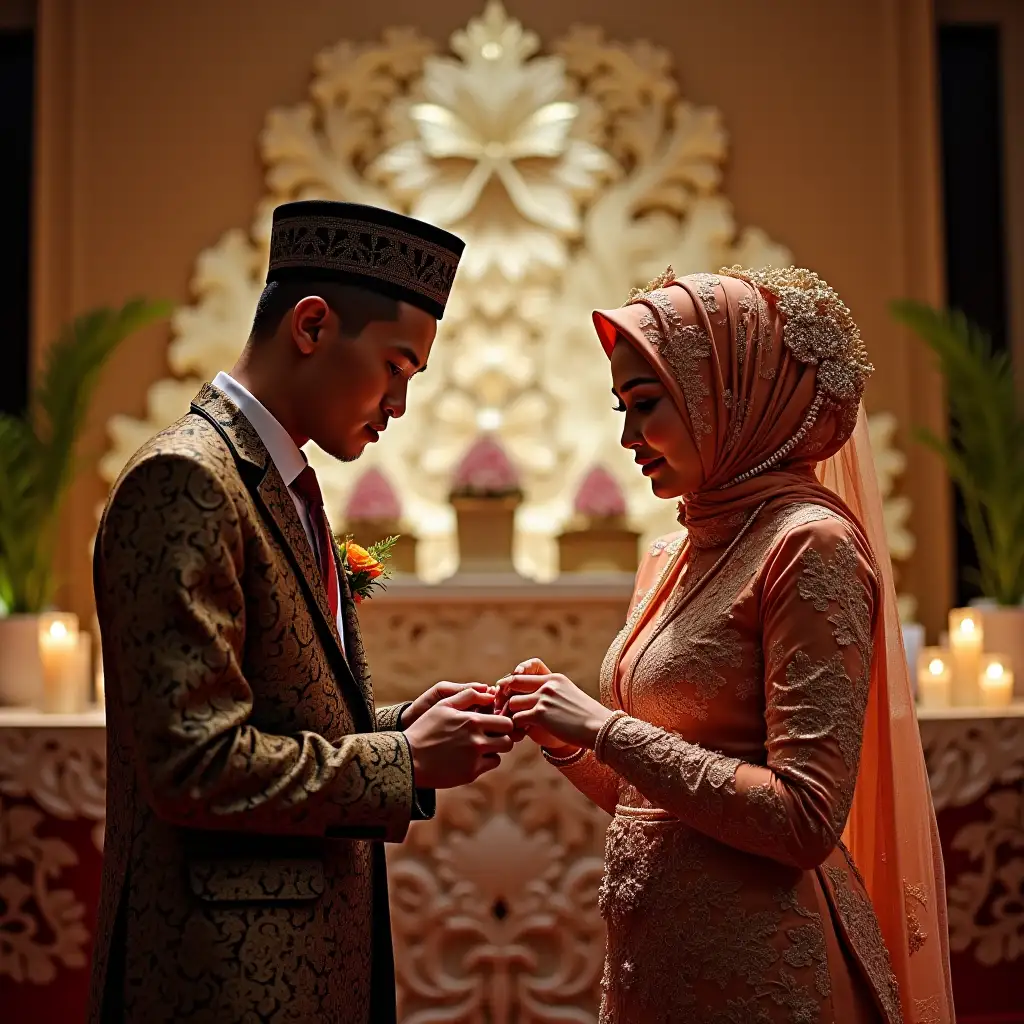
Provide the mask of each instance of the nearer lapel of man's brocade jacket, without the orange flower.
{"label": "nearer lapel of man's brocade jacket, without the orange flower", "polygon": [[[234,455],[240,472],[246,486],[253,497],[260,514],[267,520],[278,535],[285,549],[292,568],[299,579],[306,603],[309,605],[324,645],[332,660],[336,663],[336,677],[346,683],[351,693],[352,712],[365,728],[372,729],[373,705],[367,708],[365,688],[361,680],[354,675],[349,667],[338,635],[338,624],[331,614],[328,603],[327,588],[321,577],[316,557],[309,547],[306,531],[302,528],[295,503],[285,485],[278,467],[274,466],[263,441],[255,427],[245,418],[239,408],[218,388],[212,384],[204,384],[203,389],[193,399],[191,410],[204,417],[216,428]],[[344,581],[344,573],[339,569],[339,575]],[[343,595],[348,593],[347,582],[343,583]],[[351,600],[349,596],[349,600]],[[354,603],[354,602],[353,602]],[[347,617],[346,632],[347,632]],[[360,655],[362,653],[359,644]],[[369,723],[364,721],[369,716]]]}

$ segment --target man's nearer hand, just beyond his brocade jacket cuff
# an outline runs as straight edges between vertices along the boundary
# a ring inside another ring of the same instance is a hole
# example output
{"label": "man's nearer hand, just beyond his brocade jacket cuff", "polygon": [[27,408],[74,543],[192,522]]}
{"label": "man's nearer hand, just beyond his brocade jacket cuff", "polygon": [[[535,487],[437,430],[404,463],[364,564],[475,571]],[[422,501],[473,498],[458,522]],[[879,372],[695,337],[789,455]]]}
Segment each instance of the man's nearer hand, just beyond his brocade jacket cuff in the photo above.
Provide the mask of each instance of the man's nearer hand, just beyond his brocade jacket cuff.
{"label": "man's nearer hand, just beyond his brocade jacket cuff", "polygon": [[470,710],[493,700],[487,687],[481,693],[464,686],[407,726],[417,786],[449,790],[498,767],[501,755],[512,750],[512,721]]}

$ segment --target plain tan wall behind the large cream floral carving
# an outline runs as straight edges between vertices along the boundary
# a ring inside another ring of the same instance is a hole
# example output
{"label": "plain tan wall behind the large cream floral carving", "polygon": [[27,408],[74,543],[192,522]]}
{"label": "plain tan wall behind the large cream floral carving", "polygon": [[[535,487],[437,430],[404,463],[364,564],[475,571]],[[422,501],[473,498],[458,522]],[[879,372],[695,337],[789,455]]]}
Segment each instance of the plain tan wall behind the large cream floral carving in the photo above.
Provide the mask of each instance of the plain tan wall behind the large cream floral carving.
{"label": "plain tan wall behind the large cream floral carving", "polygon": [[[376,38],[388,25],[416,25],[444,42],[481,6],[42,0],[37,351],[90,305],[139,292],[186,299],[197,253],[247,225],[261,195],[265,112],[304,97],[323,46]],[[510,9],[546,40],[584,22],[669,48],[684,93],[724,115],[738,222],[790,246],[854,310],[878,366],[870,407],[904,424],[941,419],[928,360],[886,313],[897,296],[940,298],[926,0],[513,0]],[[155,330],[117,356],[92,411],[93,453],[111,414],[142,414],[146,387],[166,375],[166,341]],[[946,492],[918,450],[906,484],[920,555],[904,584],[934,629],[949,593]],[[103,496],[90,464],[61,552],[65,597],[80,613]]]}

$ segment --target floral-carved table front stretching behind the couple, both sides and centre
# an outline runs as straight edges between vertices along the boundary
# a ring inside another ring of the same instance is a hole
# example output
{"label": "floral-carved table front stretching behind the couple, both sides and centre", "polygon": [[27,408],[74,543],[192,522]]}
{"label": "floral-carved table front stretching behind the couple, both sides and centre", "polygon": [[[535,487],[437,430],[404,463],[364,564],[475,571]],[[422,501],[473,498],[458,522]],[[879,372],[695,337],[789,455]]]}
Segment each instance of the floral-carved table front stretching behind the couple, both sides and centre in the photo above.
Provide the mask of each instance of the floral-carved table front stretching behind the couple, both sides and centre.
{"label": "floral-carved table front stretching behind the couple, both sides and centre", "polygon": [[[490,682],[537,655],[596,691],[629,584],[392,585],[365,604],[382,703],[438,679]],[[1024,1021],[1024,709],[922,712],[949,901],[957,1018]],[[100,712],[0,711],[0,1006],[81,1020],[98,896]],[[406,1024],[596,1019],[606,815],[522,743],[439,795],[388,850]]]}

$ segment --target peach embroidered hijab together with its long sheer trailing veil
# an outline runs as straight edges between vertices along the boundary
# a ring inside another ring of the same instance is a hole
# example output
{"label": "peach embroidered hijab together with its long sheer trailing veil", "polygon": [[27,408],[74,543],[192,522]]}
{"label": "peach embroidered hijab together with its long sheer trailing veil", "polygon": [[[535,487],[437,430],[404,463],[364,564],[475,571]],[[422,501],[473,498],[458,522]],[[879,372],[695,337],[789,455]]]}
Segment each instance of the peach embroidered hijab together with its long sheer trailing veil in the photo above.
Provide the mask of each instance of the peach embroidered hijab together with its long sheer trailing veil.
{"label": "peach embroidered hijab together with its long sheer trailing veil", "polygon": [[728,543],[762,502],[813,502],[874,553],[881,607],[844,840],[903,1019],[954,1020],[942,853],[860,402],[873,368],[849,309],[809,270],[677,278],[670,267],[622,308],[595,311],[594,325],[609,356],[622,336],[647,358],[697,446],[705,482],[680,503],[688,547]]}

